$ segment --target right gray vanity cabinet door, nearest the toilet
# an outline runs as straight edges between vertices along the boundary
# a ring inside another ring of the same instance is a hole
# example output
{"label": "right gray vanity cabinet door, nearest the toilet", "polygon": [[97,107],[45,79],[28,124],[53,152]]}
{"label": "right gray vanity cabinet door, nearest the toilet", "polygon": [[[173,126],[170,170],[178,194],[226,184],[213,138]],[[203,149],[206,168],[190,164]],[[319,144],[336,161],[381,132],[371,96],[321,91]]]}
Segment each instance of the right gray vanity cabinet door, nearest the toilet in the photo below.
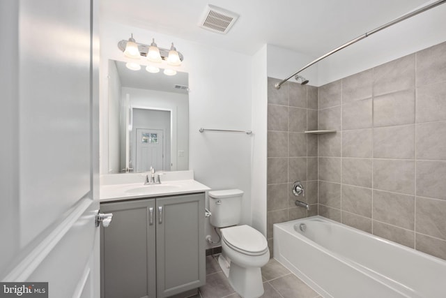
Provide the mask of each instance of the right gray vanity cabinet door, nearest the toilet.
{"label": "right gray vanity cabinet door, nearest the toilet", "polygon": [[156,207],[157,297],[199,288],[206,283],[204,193],[157,198]]}

